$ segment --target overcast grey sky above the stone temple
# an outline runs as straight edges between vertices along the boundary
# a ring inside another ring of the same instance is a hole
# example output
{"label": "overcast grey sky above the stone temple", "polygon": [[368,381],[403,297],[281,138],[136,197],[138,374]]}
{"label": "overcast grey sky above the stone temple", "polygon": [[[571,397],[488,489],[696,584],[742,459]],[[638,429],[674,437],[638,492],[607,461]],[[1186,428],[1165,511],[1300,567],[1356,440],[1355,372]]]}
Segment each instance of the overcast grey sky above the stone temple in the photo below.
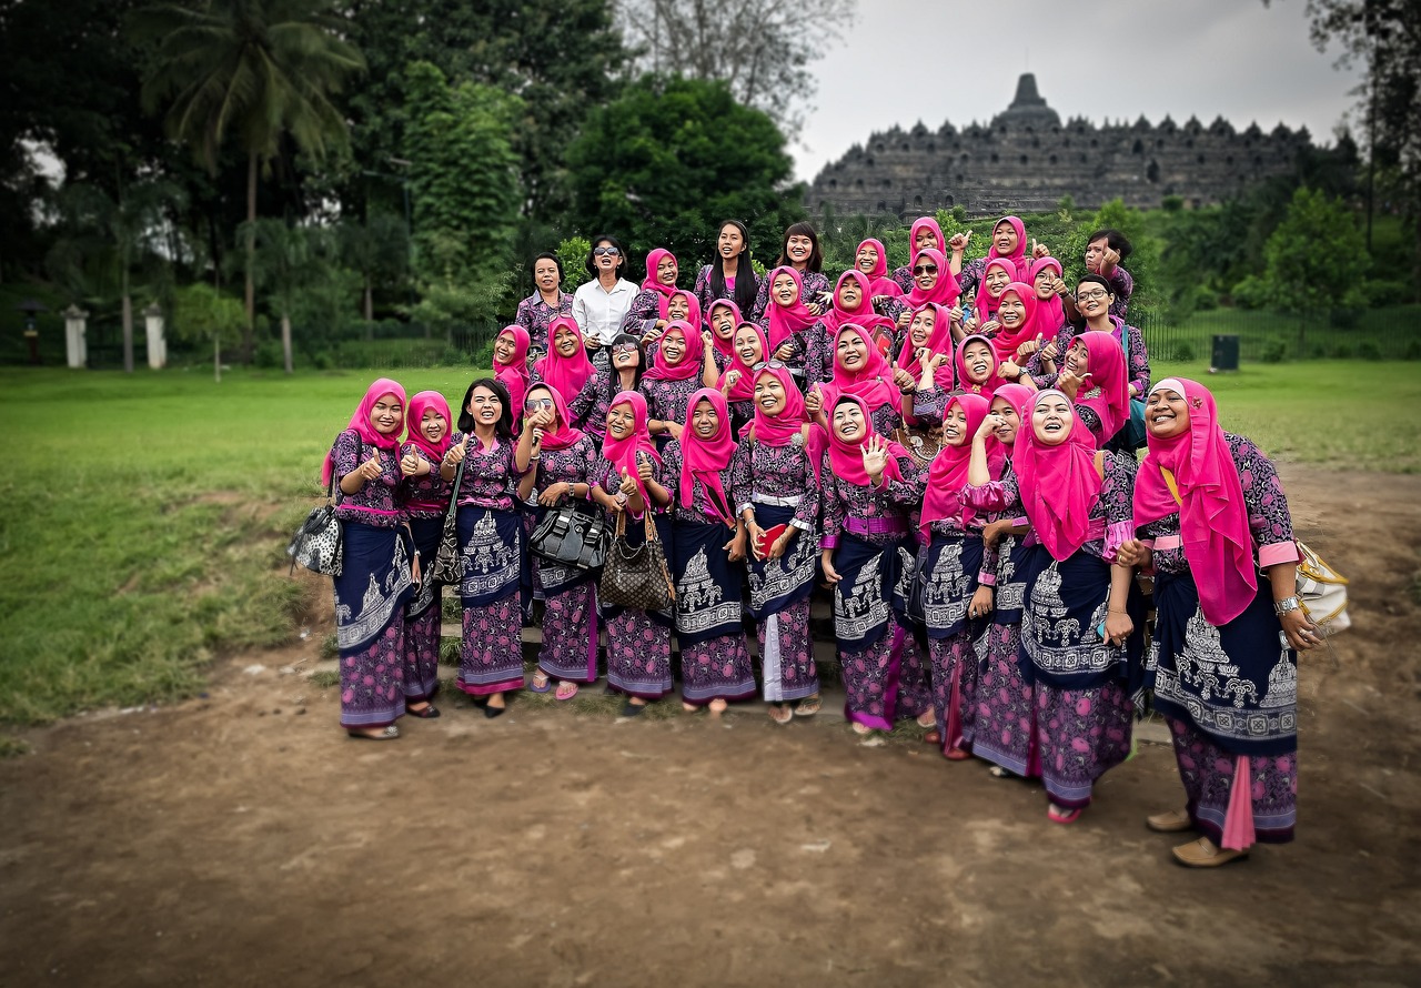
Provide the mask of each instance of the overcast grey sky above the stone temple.
{"label": "overcast grey sky above the stone temple", "polygon": [[[858,0],[843,43],[814,63],[816,109],[791,151],[811,181],[874,131],[962,127],[1006,109],[1036,74],[1061,119],[1165,114],[1239,129],[1306,125],[1331,142],[1354,74],[1307,38],[1303,0]],[[926,82],[924,85],[922,82]]]}

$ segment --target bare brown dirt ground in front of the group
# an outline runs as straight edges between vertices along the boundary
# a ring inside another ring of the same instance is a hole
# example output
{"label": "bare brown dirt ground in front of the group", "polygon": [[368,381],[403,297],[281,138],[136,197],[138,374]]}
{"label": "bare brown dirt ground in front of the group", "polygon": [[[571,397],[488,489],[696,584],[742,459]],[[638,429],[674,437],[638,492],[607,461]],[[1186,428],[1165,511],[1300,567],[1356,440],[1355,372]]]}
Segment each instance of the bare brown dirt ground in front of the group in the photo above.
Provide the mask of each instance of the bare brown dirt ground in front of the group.
{"label": "bare brown dirt ground in front of the group", "polygon": [[[0,762],[4,985],[1418,985],[1421,478],[1283,472],[1353,577],[1302,661],[1299,840],[1175,866],[1167,746],[1073,826],[1037,785],[759,705],[622,721],[446,697],[348,741],[335,689],[209,694]],[[253,664],[266,667],[249,674]]]}

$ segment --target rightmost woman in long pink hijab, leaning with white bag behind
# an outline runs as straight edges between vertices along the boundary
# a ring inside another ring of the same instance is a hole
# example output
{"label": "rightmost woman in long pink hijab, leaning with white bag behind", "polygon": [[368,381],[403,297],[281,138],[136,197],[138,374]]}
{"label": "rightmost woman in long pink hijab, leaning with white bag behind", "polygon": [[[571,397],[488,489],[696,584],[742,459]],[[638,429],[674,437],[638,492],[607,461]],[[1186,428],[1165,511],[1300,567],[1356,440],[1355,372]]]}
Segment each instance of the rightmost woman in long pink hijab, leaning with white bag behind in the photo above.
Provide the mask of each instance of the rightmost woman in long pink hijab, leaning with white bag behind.
{"label": "rightmost woman in long pink hijab, leaning with white bag behind", "polygon": [[1147,825],[1196,832],[1174,857],[1214,867],[1255,842],[1293,839],[1297,653],[1322,633],[1296,597],[1297,546],[1273,463],[1221,428],[1195,381],[1157,384],[1145,431],[1138,539],[1120,554],[1155,574],[1155,709],[1185,792],[1182,810]]}

